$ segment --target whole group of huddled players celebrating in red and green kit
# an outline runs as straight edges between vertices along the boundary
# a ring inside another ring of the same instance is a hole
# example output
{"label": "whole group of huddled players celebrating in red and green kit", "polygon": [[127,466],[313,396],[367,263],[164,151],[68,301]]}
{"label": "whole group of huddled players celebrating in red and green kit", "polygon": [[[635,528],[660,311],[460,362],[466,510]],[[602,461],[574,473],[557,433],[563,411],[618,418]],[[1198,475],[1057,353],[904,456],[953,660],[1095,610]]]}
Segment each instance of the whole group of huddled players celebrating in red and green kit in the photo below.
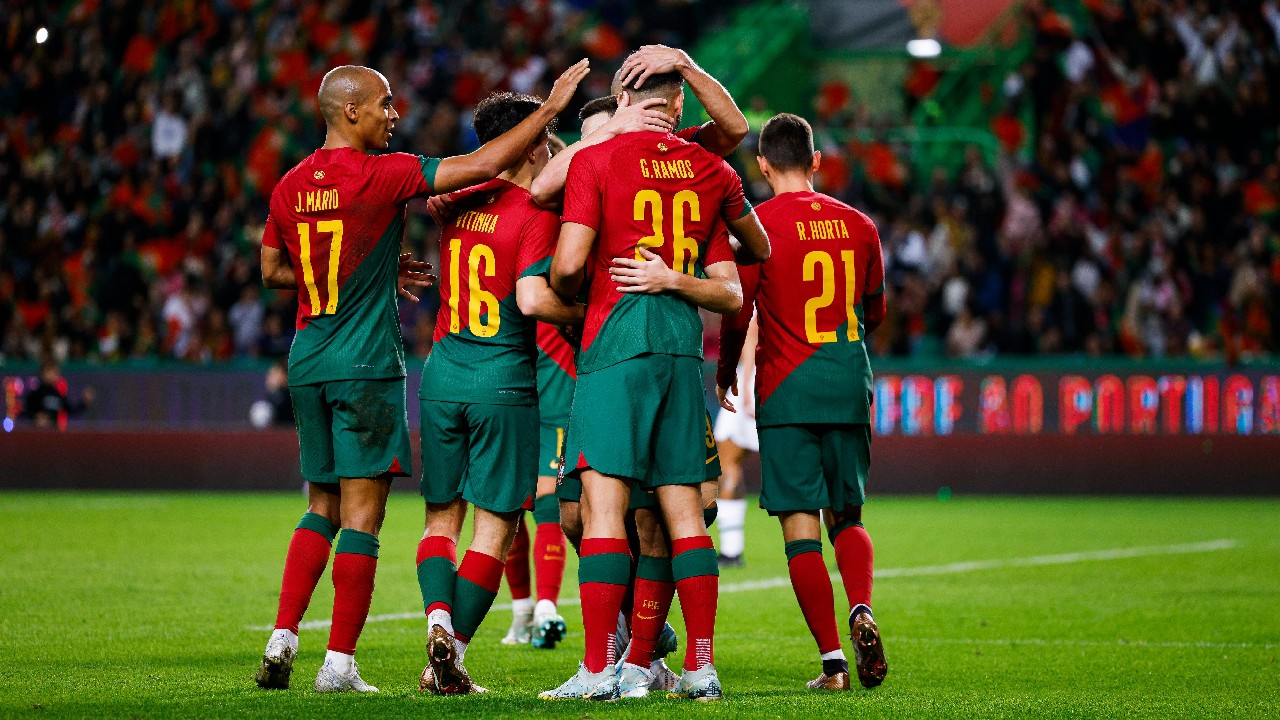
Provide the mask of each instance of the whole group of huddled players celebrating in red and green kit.
{"label": "whole group of huddled players celebrating in red and green kit", "polygon": [[[485,692],[465,659],[504,570],[522,592],[503,642],[556,647],[566,632],[556,605],[567,538],[579,555],[585,655],[539,697],[722,697],[708,534],[721,471],[700,307],[724,315],[724,411],[741,405],[740,383],[755,386],[760,505],[782,523],[791,584],[822,657],[808,687],[851,685],[823,525],[849,596],[858,679],[883,680],[861,525],[872,400],[863,340],[884,315],[876,228],[814,192],[820,155],[808,123],[790,114],[760,131],[759,165],[776,196],[753,209],[723,160],[746,136],[745,118],[677,49],[628,56],[612,95],[580,111],[582,140],[553,152],[554,118],[588,72],[586,60],[568,68],[545,101],[484,100],[474,115],[481,147],[443,160],[372,154],[398,119],[389,83],[351,65],[325,76],[325,143],[275,187],[262,237],[264,283],[298,292],[289,391],[310,497],[259,685],[289,685],[298,625],[335,550],[315,689],[376,692],[355,651],[390,482],[411,474],[397,293],[413,297],[411,288],[436,281],[399,252],[406,204],[420,196],[431,197],[443,228],[442,305],[419,393],[420,688]],[[712,120],[676,132],[686,83]],[[754,380],[737,373],[753,316]],[[474,537],[460,564],[468,507]],[[529,509],[536,603],[522,560]],[[663,661],[678,644],[667,624],[675,596],[686,629],[678,675]]]}

